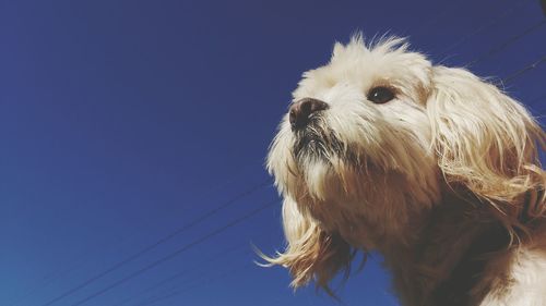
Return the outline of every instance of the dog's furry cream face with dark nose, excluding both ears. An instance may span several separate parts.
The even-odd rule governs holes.
[[[300,210],[368,248],[365,224],[395,231],[439,193],[426,110],[431,65],[405,46],[393,50],[401,42],[337,44],[328,65],[304,74],[269,157]]]

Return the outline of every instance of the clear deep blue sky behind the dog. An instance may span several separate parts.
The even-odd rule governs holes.
[[[283,246],[263,161],[290,91],[356,30],[546,110],[534,0],[1,1],[0,305],[339,305],[250,243]],[[397,305],[380,262],[343,305]]]

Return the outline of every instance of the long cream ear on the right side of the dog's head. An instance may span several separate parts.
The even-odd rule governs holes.
[[[545,216],[537,148],[546,135],[523,106],[463,69],[436,66],[428,94],[432,146],[448,183],[492,205],[509,228],[522,215]]]

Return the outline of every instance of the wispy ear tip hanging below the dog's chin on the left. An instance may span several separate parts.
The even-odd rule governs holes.
[[[290,271],[292,286],[299,287],[314,279],[318,286],[331,293],[328,283],[340,271],[346,276],[354,257],[351,246],[337,234],[320,229],[312,218],[299,211],[297,204],[285,198],[283,225],[286,249],[276,258],[262,256],[271,265],[281,265]]]

